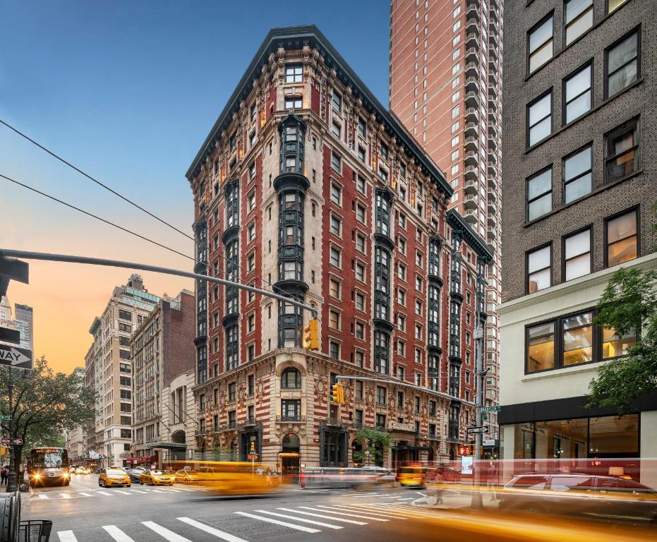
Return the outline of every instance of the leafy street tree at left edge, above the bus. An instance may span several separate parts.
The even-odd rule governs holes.
[[[23,445],[16,445],[16,474],[23,448],[30,445],[57,442],[57,435],[64,430],[85,425],[95,417],[95,395],[85,386],[80,376],[72,373],[55,373],[44,357],[35,359],[30,378],[23,378],[23,371],[11,369],[13,399],[8,404],[8,371],[0,371],[0,411],[11,416],[2,421],[4,434],[22,438]],[[60,440],[61,441],[61,440]]]

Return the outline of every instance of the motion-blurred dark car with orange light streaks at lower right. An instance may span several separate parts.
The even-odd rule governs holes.
[[[657,525],[657,491],[591,474],[519,474],[498,493],[500,509]]]

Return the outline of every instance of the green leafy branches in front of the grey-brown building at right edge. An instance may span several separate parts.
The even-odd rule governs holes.
[[[626,414],[635,399],[657,390],[657,272],[617,270],[598,303],[593,323],[617,335],[636,332],[628,355],[606,363],[589,384],[588,406],[611,407]]]

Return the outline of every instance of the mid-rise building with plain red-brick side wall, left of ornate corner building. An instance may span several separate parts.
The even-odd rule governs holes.
[[[195,448],[194,430],[179,418],[187,411],[186,392],[171,383],[186,380],[195,367],[195,298],[183,290],[164,296],[130,339],[132,361],[132,449],[129,464],[157,464],[184,459]],[[175,399],[182,398],[176,405]],[[191,405],[189,405],[191,406]],[[176,417],[171,416],[176,412]],[[181,422],[179,424],[179,422]]]

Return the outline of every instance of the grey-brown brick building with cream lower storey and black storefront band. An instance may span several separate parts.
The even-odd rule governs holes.
[[[654,7],[505,2],[498,313],[507,459],[657,453],[655,397],[622,418],[585,408],[598,368],[636,342],[592,325],[605,285],[619,267],[657,267]]]

